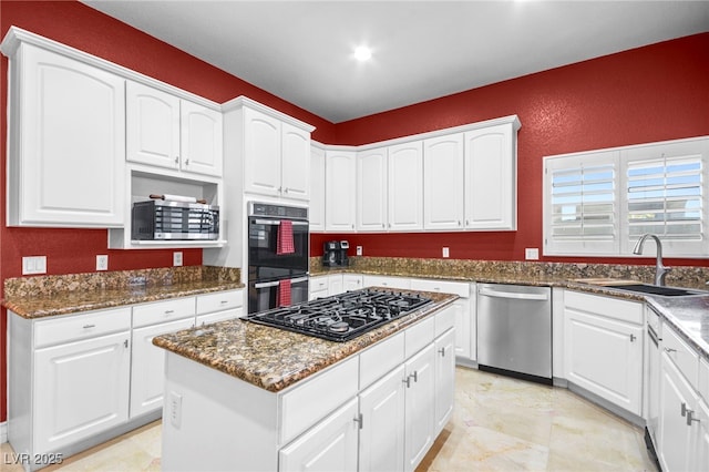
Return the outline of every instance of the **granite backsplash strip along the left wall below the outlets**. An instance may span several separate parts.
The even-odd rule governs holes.
[[[111,290],[145,285],[168,286],[203,280],[239,283],[242,271],[232,267],[183,266],[137,270],[114,270],[37,277],[16,277],[4,280],[4,296],[51,296],[75,290]]]

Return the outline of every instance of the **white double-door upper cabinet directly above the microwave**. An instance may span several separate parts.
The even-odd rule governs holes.
[[[127,161],[222,175],[222,113],[131,81],[125,106]]]

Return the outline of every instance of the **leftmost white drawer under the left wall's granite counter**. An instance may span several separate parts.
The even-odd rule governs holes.
[[[37,321],[34,347],[94,338],[131,329],[131,308],[88,311],[81,315]]]

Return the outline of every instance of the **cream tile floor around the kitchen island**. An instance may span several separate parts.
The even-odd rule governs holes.
[[[422,471],[657,471],[643,430],[566,389],[458,368],[453,419]],[[156,421],[44,471],[157,471]],[[2,471],[21,471],[1,448]]]

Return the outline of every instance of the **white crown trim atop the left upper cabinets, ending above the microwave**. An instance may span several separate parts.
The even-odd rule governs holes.
[[[66,44],[62,44],[58,41],[41,37],[18,27],[10,27],[8,33],[2,40],[2,43],[0,43],[0,52],[2,52],[8,58],[12,58],[22,43],[32,44],[47,51],[51,51],[56,54],[74,59],[76,61],[81,61],[89,65],[119,75],[123,79],[140,82],[154,89],[176,95],[189,102],[198,103],[209,110],[214,110],[217,112],[222,111],[222,105],[219,103],[213,102],[199,95],[195,95],[194,93],[189,93],[166,82],[162,82],[157,79],[153,79],[140,72],[135,72],[131,69],[124,68],[123,65],[115,64],[113,62],[106,61],[105,59],[97,58],[95,55],[89,54],[88,52],[78,50]]]

